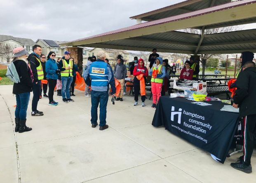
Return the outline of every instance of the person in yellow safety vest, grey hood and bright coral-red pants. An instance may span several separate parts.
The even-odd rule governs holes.
[[[155,64],[151,67],[149,71],[149,75],[151,78],[151,92],[153,97],[152,108],[156,108],[156,101],[159,101],[161,96],[161,89],[163,84],[163,78],[165,76],[165,67],[162,65],[163,59],[162,57],[157,57],[155,59]]]

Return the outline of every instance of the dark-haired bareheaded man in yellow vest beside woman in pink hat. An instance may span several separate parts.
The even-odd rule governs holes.
[[[43,116],[44,113],[37,109],[42,88],[41,80],[44,78],[44,71],[39,59],[42,53],[42,47],[36,44],[32,47],[32,50],[33,53],[28,56],[28,64],[31,67],[34,78],[31,116]]]

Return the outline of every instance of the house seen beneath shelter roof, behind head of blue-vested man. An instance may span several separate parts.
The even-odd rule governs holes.
[[[124,50],[114,50],[114,49],[105,49],[105,48],[94,48],[89,51],[89,57],[97,56],[99,51],[103,51],[106,54],[106,58],[109,60],[109,64],[114,66],[116,64],[117,55],[121,54],[124,57],[124,61],[129,60],[129,53]]]

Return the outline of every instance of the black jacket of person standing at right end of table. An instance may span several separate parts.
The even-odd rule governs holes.
[[[256,114],[256,67],[248,67],[237,77],[234,103],[239,105],[240,117]]]

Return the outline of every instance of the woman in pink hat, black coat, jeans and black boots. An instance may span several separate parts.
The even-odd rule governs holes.
[[[23,133],[32,130],[26,126],[26,116],[30,92],[33,89],[32,71],[26,62],[26,51],[22,47],[14,48],[13,64],[19,75],[20,82],[14,83],[12,93],[16,95],[15,132]]]

